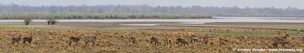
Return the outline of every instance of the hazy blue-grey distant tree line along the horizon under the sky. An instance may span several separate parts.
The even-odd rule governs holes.
[[[303,9],[239,8],[202,6],[148,6],[148,5],[97,5],[97,6],[20,6],[1,5],[0,13],[133,13],[133,14],[235,14],[235,15],[304,15]]]

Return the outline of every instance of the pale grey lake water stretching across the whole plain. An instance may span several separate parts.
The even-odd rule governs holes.
[[[202,24],[208,22],[290,22],[304,23],[304,18],[281,17],[215,17],[218,19],[106,19],[106,20],[58,20],[59,22],[181,22],[182,24]],[[0,20],[0,22],[24,22],[23,20]],[[46,22],[46,20],[33,20]],[[159,24],[121,24],[135,26],[154,26]]]

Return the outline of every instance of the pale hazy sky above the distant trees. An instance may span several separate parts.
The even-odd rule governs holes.
[[[0,4],[29,6],[70,6],[70,5],[144,5],[149,6],[214,6],[214,7],[296,7],[304,9],[304,0],[0,0]]]

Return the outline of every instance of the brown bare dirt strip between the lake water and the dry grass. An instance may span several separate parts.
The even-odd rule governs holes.
[[[57,25],[32,23],[23,25],[22,22],[11,22],[0,27],[35,27],[35,28],[78,28],[78,29],[110,29],[110,30],[173,30],[178,28],[258,28],[258,27],[302,27],[304,23],[265,23],[265,22],[215,22],[204,24],[176,24],[177,22],[63,22]],[[0,23],[4,24],[4,23]],[[120,24],[163,24],[162,26],[127,26]]]

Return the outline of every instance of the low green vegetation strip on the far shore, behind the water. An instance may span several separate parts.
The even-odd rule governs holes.
[[[211,15],[201,14],[80,14],[80,13],[45,13],[45,14],[0,14],[1,20],[43,19],[206,19]]]

